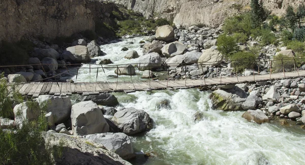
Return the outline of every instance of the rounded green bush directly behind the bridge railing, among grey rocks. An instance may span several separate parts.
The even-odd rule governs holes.
[[[237,52],[230,57],[232,61],[235,72],[241,73],[245,69],[252,69],[256,66],[257,55],[252,52]]]

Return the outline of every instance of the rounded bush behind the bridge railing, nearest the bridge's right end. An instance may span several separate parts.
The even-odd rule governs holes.
[[[294,69],[294,60],[293,59],[283,59],[289,58],[288,55],[278,54],[273,57],[275,61],[272,61],[272,72],[283,72],[283,65],[285,71],[292,71]],[[282,63],[283,59],[283,63]]]

